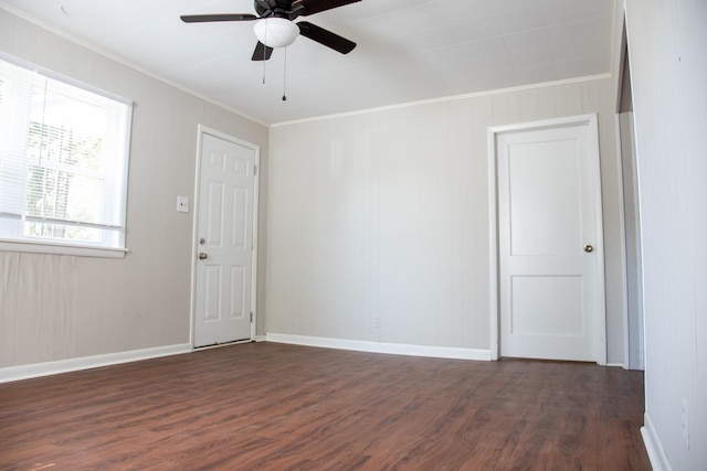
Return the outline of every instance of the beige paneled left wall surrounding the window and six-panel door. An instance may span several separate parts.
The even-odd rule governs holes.
[[[176,199],[193,202],[197,126],[261,146],[264,170],[267,128],[2,9],[0,50],[135,101],[129,254],[116,260],[0,251],[0,367],[189,343],[193,212],[177,213]],[[263,181],[262,255],[266,189]]]

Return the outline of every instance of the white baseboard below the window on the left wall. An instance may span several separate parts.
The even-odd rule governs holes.
[[[29,379],[80,370],[97,368],[160,356],[178,355],[192,351],[190,343],[156,346],[152,349],[130,350],[127,352],[107,353],[104,355],[82,356],[77,358],[57,360],[55,362],[33,363],[31,365],[7,366],[0,368],[0,383]]]

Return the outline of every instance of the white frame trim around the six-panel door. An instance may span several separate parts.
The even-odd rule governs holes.
[[[223,139],[225,141],[245,147],[255,152],[255,165],[257,168],[257,172],[255,173],[255,180],[253,182],[253,250],[252,250],[252,263],[253,269],[251,271],[251,312],[253,313],[253,321],[251,322],[251,341],[255,340],[255,327],[257,325],[257,221],[258,221],[258,183],[261,180],[261,147],[245,141],[243,139],[239,139],[225,132],[221,132],[213,128],[209,128],[204,125],[197,125],[197,169],[194,176],[194,195],[192,199],[192,236],[191,236],[191,299],[190,299],[190,322],[189,322],[189,342],[191,344],[192,350],[194,346],[194,323],[197,315],[197,260],[199,246],[197,240],[199,238],[199,194],[201,191],[201,146],[203,142],[203,136],[210,135],[217,137],[219,139]]]

